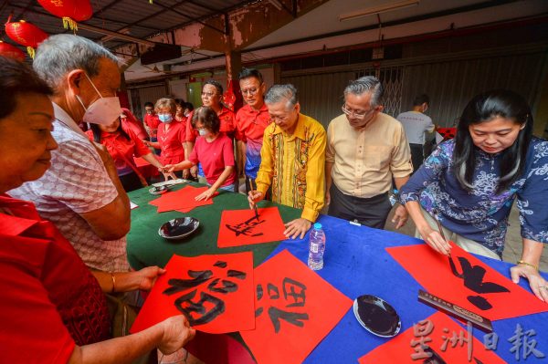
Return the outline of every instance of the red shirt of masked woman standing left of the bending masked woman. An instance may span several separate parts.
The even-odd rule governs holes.
[[[164,165],[184,161],[184,127],[184,123],[177,120],[173,120],[169,124],[162,123],[158,126],[158,142],[162,150],[160,161]]]

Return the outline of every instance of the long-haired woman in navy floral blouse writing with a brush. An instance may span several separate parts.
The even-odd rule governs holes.
[[[454,140],[442,142],[402,188],[401,199],[417,233],[440,254],[450,245],[501,259],[508,216],[517,198],[522,259],[511,277],[529,280],[548,302],[548,283],[538,273],[548,243],[548,141],[532,137],[532,114],[522,97],[492,90],[469,101]],[[425,212],[426,210],[426,212]]]

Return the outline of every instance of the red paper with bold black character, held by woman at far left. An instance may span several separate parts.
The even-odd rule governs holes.
[[[255,327],[253,254],[174,255],[135,319],[132,333],[183,314],[196,330],[220,334]]]

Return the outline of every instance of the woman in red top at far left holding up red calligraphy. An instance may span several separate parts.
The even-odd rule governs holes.
[[[153,348],[169,354],[195,335],[184,316],[110,339],[104,287],[72,245],[32,203],[6,192],[40,178],[58,147],[51,135],[52,90],[24,63],[0,57],[0,342],[8,363],[130,363]],[[14,138],[16,136],[16,138]],[[150,289],[158,267],[132,289]],[[140,271],[140,272],[142,272]],[[108,273],[105,274],[109,276]],[[116,288],[129,286],[117,276]],[[112,280],[114,283],[114,280]]]

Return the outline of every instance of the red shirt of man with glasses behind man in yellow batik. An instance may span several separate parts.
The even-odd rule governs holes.
[[[253,140],[262,144],[263,134],[269,126],[270,115],[267,105],[256,110],[249,105],[237,110],[236,139],[242,141]]]

